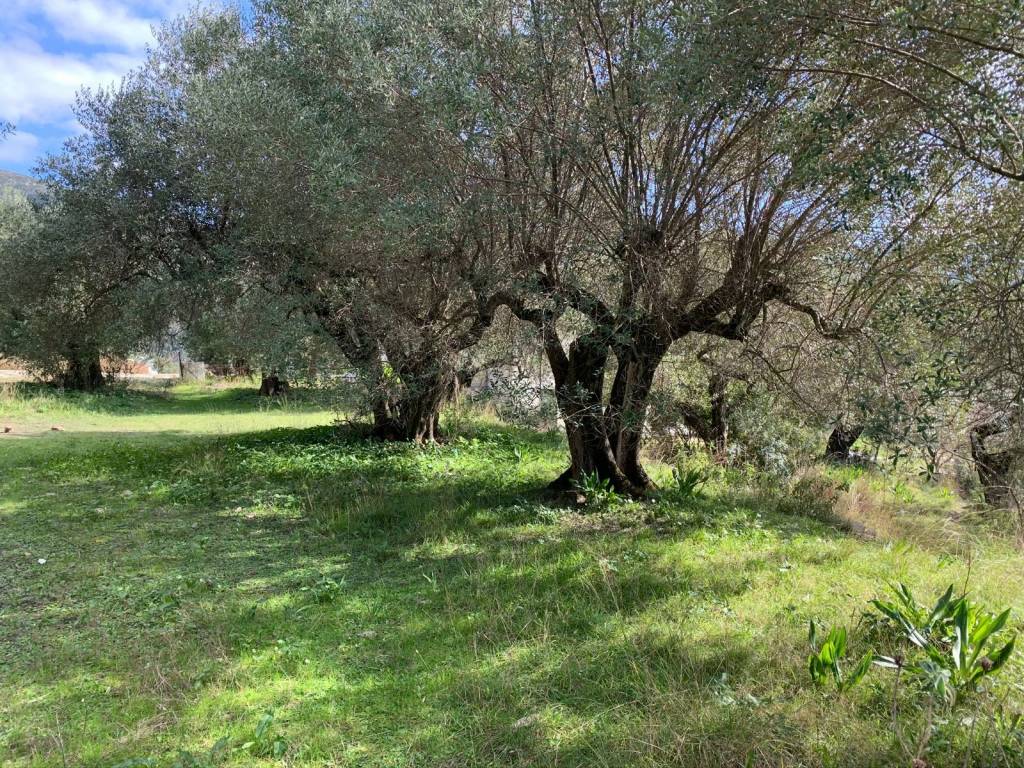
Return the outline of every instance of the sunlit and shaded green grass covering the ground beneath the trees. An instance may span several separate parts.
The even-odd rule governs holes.
[[[854,627],[896,580],[1024,616],[1024,557],[937,490],[880,479],[902,532],[873,540],[735,477],[582,514],[539,493],[557,436],[476,420],[418,450],[335,418],[0,396],[0,765],[204,765],[223,738],[229,766],[907,765],[891,678],[813,687],[808,621]],[[1015,658],[933,719],[929,764],[1020,765],[983,716],[1022,685]]]

